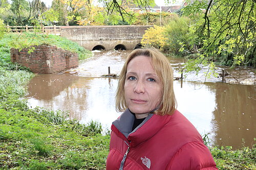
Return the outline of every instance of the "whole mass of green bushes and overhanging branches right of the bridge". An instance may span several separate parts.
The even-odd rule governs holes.
[[[191,65],[196,69],[206,65],[214,69],[216,63],[231,68],[256,67],[255,1],[185,2],[188,5],[180,11],[181,16],[172,17],[161,33],[166,38],[162,47],[166,53],[196,59],[190,60],[184,71],[189,71],[186,68]],[[152,40],[152,37],[144,37],[142,41],[150,42],[147,38]]]

